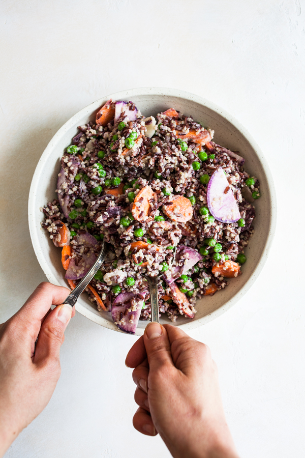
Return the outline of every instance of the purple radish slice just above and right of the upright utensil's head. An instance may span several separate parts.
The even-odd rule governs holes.
[[[186,245],[180,245],[177,247],[175,265],[167,274],[164,274],[164,280],[167,284],[170,284],[173,280],[192,269],[201,260],[202,256],[197,250]]]

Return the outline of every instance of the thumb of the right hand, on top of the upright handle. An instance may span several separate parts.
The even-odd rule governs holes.
[[[173,366],[168,335],[159,323],[148,323],[144,332],[144,345],[149,370],[157,370],[163,365]]]

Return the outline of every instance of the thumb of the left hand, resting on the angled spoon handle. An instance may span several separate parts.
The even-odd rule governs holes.
[[[48,358],[59,359],[60,346],[72,311],[71,305],[63,304],[58,305],[48,314],[38,334],[35,363],[44,362]]]

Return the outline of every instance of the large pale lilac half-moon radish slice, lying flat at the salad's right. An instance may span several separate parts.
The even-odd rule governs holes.
[[[218,221],[232,223],[240,219],[237,202],[222,167],[211,176],[206,197],[208,209]]]

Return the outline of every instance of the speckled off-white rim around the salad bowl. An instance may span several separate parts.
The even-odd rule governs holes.
[[[81,119],[86,113],[92,113],[94,109],[92,108],[92,105],[102,105],[105,100],[109,100],[110,98],[113,100],[120,100],[120,99],[127,99],[129,98],[132,100],[133,97],[135,96],[154,96],[154,95],[166,95],[166,96],[172,96],[172,97],[178,97],[182,99],[189,100],[191,102],[196,102],[199,103],[207,108],[209,108],[212,111],[215,111],[218,115],[222,116],[225,118],[227,121],[229,121],[235,128],[248,140],[249,144],[251,147],[255,150],[256,155],[258,156],[258,159],[261,163],[261,166],[264,170],[264,173],[267,177],[267,182],[268,182],[268,188],[270,192],[270,202],[272,202],[272,205],[270,206],[270,224],[269,224],[269,229],[268,229],[268,236],[265,240],[264,247],[262,249],[262,254],[260,256],[260,259],[253,270],[252,275],[249,277],[249,279],[246,281],[246,283],[241,287],[239,291],[234,294],[230,300],[228,300],[225,304],[221,305],[218,307],[216,310],[212,311],[211,313],[207,314],[206,316],[199,318],[199,319],[194,319],[190,320],[188,323],[184,324],[176,324],[176,326],[180,327],[181,329],[184,329],[185,331],[190,331],[192,329],[195,329],[199,326],[202,326],[203,324],[206,324],[210,322],[211,320],[214,320],[215,318],[219,317],[221,314],[226,312],[232,305],[234,305],[237,301],[241,299],[243,295],[245,295],[249,289],[252,287],[253,283],[255,280],[258,278],[259,274],[261,273],[265,262],[267,260],[269,248],[272,244],[273,237],[275,235],[275,230],[276,230],[276,222],[277,222],[277,205],[276,205],[276,189],[275,185],[273,182],[273,178],[271,175],[271,171],[269,169],[269,166],[267,164],[266,159],[264,158],[264,155],[258,146],[257,142],[255,139],[252,137],[252,135],[243,127],[233,116],[230,115],[226,110],[223,108],[219,107],[216,105],[214,102],[211,102],[203,97],[200,97],[198,95],[186,92],[186,91],[180,91],[176,89],[168,89],[168,88],[137,88],[137,89],[129,89],[126,91],[120,91],[116,92],[114,94],[110,94],[107,96],[102,97],[101,99],[90,103],[80,111],[78,111],[72,118],[70,118],[52,137],[50,140],[48,146],[44,150],[34,173],[32,183],[31,183],[31,188],[29,191],[29,198],[28,198],[28,224],[29,224],[29,231],[31,234],[31,240],[33,244],[33,248],[37,257],[37,260],[45,273],[47,279],[54,283],[54,284],[59,284],[57,281],[56,277],[50,272],[49,266],[48,266],[48,261],[45,259],[45,257],[41,254],[40,250],[40,244],[39,244],[39,239],[38,239],[38,234],[37,234],[37,225],[36,225],[36,220],[35,220],[35,206],[36,206],[36,191],[37,191],[37,186],[39,182],[39,177],[42,173],[42,170],[45,166],[46,160],[49,156],[52,154],[53,150],[53,144],[56,144],[56,140],[58,140],[60,137],[63,136],[63,134],[69,130],[71,127],[78,125],[77,122],[79,119]],[[108,321],[105,318],[103,318],[101,315],[96,315],[92,311],[88,310],[82,303],[81,299],[77,302],[76,304],[76,310],[80,312],[84,317],[88,318],[91,321],[94,321],[95,323],[100,324],[101,326],[104,326],[108,329],[112,329],[115,331],[119,331],[118,328],[114,325],[112,321]],[[136,335],[142,335],[144,333],[145,328],[137,328],[136,330]],[[121,332],[121,331],[119,331]]]

